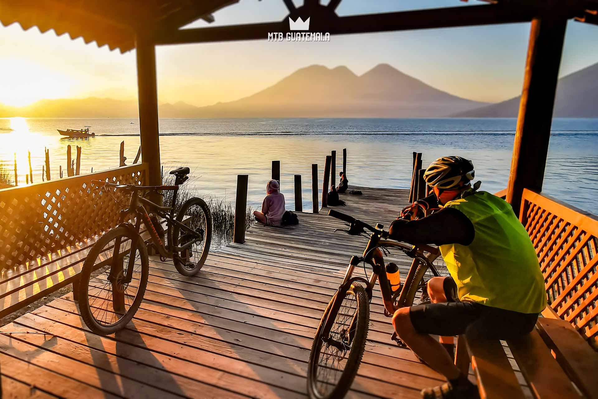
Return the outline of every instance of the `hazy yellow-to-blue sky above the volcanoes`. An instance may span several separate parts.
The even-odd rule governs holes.
[[[295,0],[295,4],[300,1]],[[344,0],[340,15],[461,6],[458,0]],[[469,4],[478,4],[470,1]],[[282,0],[242,0],[215,14],[215,25],[282,20]],[[199,21],[190,27],[207,26]],[[161,46],[160,102],[208,105],[251,95],[298,68],[346,65],[358,75],[378,63],[474,100],[521,91],[529,23],[332,36],[329,42],[244,41]],[[598,26],[569,22],[561,75],[598,62]],[[0,26],[0,103],[42,98],[136,96],[135,50],[126,54],[72,41],[54,31]]]

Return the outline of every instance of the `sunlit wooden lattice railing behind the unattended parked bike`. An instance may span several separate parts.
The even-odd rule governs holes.
[[[115,199],[122,194],[94,190],[91,180],[144,184],[146,173],[140,163],[0,190],[0,267],[44,257],[114,227],[123,208]]]

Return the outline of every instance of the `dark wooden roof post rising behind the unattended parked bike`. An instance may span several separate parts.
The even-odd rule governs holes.
[[[141,157],[147,163],[147,185],[161,185],[160,136],[158,135],[158,93],[155,78],[155,44],[148,36],[138,33],[135,38],[137,57],[137,86],[139,99],[139,132],[141,133]],[[150,197],[158,205],[162,197],[157,193]]]

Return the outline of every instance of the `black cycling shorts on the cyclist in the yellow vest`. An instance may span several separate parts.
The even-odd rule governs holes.
[[[533,330],[538,313],[520,313],[480,303],[456,299],[456,284],[444,279],[444,292],[449,302],[411,306],[411,324],[420,334],[486,339],[509,339]],[[456,301],[454,301],[456,300]]]

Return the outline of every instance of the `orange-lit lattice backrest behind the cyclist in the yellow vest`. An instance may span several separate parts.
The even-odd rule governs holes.
[[[550,306],[598,346],[598,217],[524,190],[520,220],[536,248]]]

